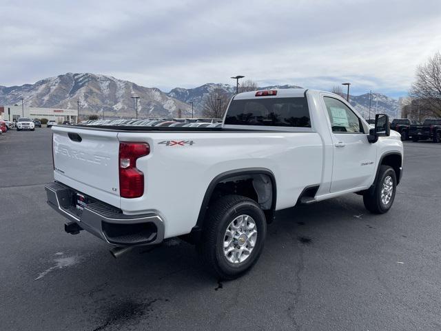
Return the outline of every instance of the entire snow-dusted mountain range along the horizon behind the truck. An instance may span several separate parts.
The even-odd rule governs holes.
[[[295,85],[263,86],[259,89],[300,88]],[[177,117],[181,110],[183,117],[192,114],[201,116],[203,100],[213,90],[228,95],[236,92],[236,87],[221,83],[206,83],[197,88],[174,88],[163,92],[158,88],[146,88],[131,81],[116,79],[103,74],[60,74],[57,77],[41,79],[34,84],[23,86],[0,86],[0,105],[20,103],[27,107],[76,108],[79,101],[81,114],[99,114],[105,117],[134,117],[135,100],[139,97],[140,118]],[[369,117],[369,93],[350,96],[351,104],[365,117]],[[384,94],[371,94],[371,117],[375,111],[396,117],[398,101]]]

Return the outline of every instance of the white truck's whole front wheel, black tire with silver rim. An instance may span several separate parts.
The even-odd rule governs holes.
[[[384,214],[391,209],[397,188],[395,170],[389,165],[380,165],[380,172],[373,192],[367,190],[363,195],[363,202],[369,212]]]

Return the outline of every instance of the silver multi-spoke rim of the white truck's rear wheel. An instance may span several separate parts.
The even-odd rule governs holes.
[[[257,239],[256,222],[249,215],[236,217],[225,231],[223,254],[230,263],[242,263],[254,250]]]

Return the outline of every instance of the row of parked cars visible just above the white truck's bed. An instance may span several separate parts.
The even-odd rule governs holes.
[[[81,126],[168,126],[191,128],[218,128],[221,119],[101,119],[79,123]]]

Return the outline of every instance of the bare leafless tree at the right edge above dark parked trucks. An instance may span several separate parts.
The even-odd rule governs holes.
[[[434,116],[441,117],[441,52],[418,66],[409,95],[422,101]]]

